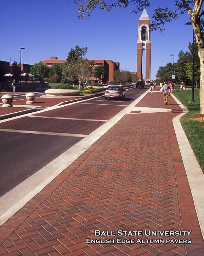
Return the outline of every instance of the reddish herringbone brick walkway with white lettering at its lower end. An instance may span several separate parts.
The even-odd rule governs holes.
[[[148,93],[141,107],[172,112],[130,114],[93,144],[1,228],[0,255],[201,256],[204,243],[172,119],[172,97]],[[95,236],[94,230],[116,236]],[[117,236],[117,230],[182,231],[190,236]],[[12,233],[12,234],[11,234]],[[86,239],[135,239],[87,244]],[[137,239],[164,243],[136,243]],[[190,244],[179,244],[191,239]],[[174,239],[174,243],[165,243]]]

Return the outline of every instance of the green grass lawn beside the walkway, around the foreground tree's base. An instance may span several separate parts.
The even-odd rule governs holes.
[[[193,120],[193,115],[200,113],[199,90],[194,90],[194,102],[191,103],[188,101],[191,101],[192,90],[173,91],[173,94],[189,111],[180,118],[180,122],[204,171],[204,122]]]

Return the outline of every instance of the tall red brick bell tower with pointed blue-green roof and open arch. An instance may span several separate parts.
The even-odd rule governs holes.
[[[145,79],[150,80],[151,68],[151,41],[150,41],[150,19],[146,9],[139,18],[138,41],[137,41],[137,76],[142,79],[142,52],[146,52],[146,74]]]

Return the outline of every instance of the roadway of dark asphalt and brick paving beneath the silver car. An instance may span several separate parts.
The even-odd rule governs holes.
[[[123,101],[115,98],[104,100],[104,97],[101,96],[56,110],[33,114],[36,117],[28,116],[0,123],[1,129],[31,131],[30,133],[0,132],[0,196],[83,139],[83,137],[78,137],[78,134],[90,134],[136,100],[147,89],[149,88],[126,90]],[[53,117],[60,117],[60,119]],[[71,133],[74,137],[34,134],[32,131]]]

